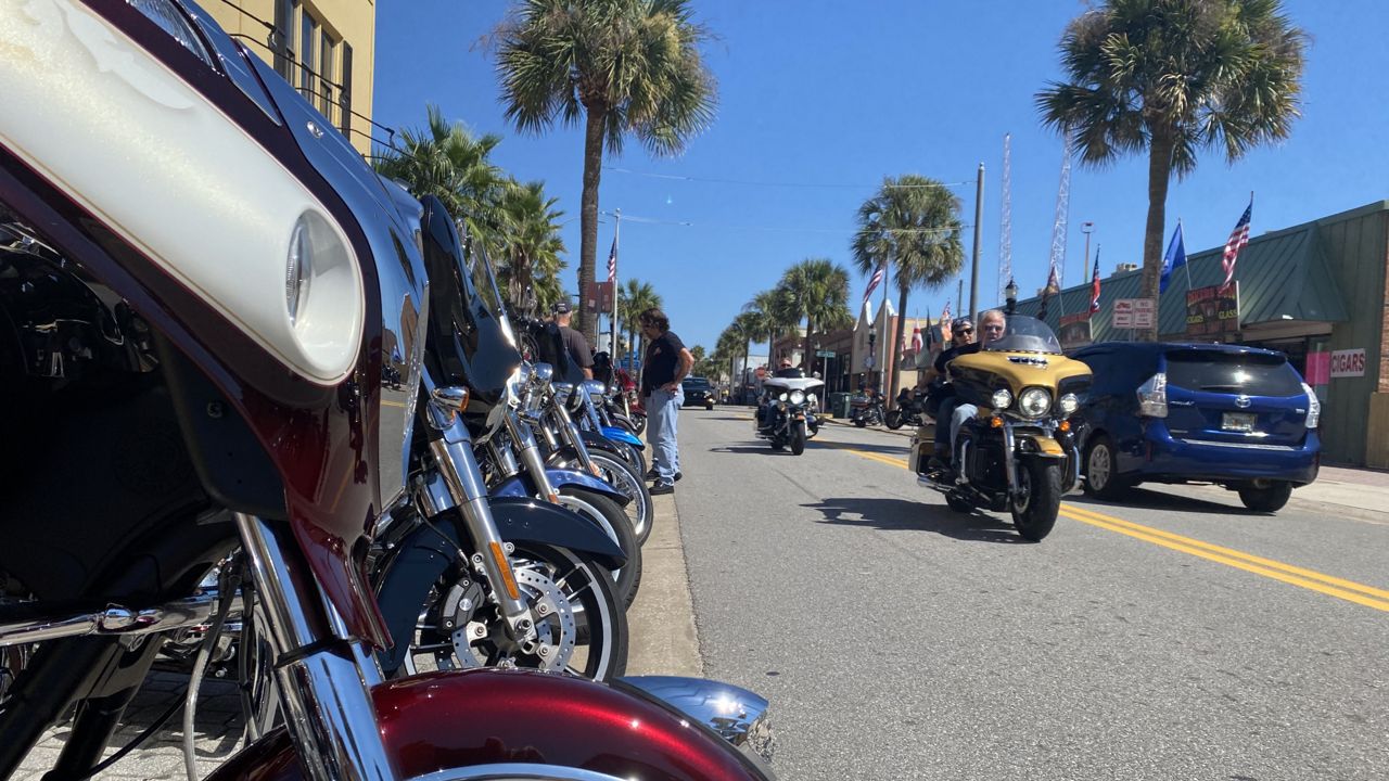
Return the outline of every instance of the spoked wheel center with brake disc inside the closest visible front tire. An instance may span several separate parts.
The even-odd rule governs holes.
[[[496,606],[476,582],[456,584],[444,598],[444,630],[451,630],[454,657],[458,666],[469,667],[528,667],[564,670],[574,656],[578,638],[574,607],[549,577],[528,568],[515,568],[517,586],[531,606],[529,621],[535,638],[524,642],[511,639]]]

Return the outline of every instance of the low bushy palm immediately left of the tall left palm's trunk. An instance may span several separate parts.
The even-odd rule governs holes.
[[[514,311],[550,311],[564,290],[560,270],[564,242],[560,239],[558,199],[546,197],[544,182],[506,182],[499,199],[500,229],[489,239],[501,258],[497,274]]]

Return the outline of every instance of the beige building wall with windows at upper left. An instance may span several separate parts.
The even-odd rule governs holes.
[[[299,88],[358,151],[371,153],[375,0],[200,0],[200,4],[232,38]]]

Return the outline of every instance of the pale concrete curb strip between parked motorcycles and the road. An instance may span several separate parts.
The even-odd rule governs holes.
[[[685,541],[675,496],[653,496],[656,518],[642,546],[642,588],[626,611],[628,675],[704,677],[694,625],[694,599],[685,567]]]

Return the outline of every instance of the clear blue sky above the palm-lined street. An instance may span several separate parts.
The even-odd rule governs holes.
[[[569,250],[564,285],[576,289],[582,133],[558,126],[521,135],[501,113],[483,38],[506,0],[378,0],[374,118],[424,126],[425,104],[475,132],[504,136],[493,158],[519,179],[544,179],[560,197]],[[704,49],[718,79],[713,126],[683,156],[651,158],[636,143],[608,156],[599,207],[622,210],[619,275],[651,282],[672,329],[713,347],[753,293],[789,265],[829,257],[850,270],[850,306],[867,277],[853,270],[858,206],[883,176],[922,174],[958,183],[961,220],[974,222],[974,176],[986,168],[979,260],[981,306],[996,300],[1003,136],[1011,133],[1013,267],[1024,292],[1046,281],[1061,140],[1038,121],[1033,94],[1060,78],[1056,43],[1083,3],[876,0],[706,0],[697,18],[717,36]],[[1286,1],[1311,35],[1303,118],[1275,147],[1235,165],[1208,151],[1174,182],[1170,233],[1182,218],[1189,253],[1222,245],[1253,190],[1253,235],[1389,197],[1389,6]],[[1092,221],[1101,275],[1140,263],[1146,163],[1076,167],[1071,179],[1065,283],[1081,282]],[[603,267],[611,218],[599,231]],[[964,236],[972,252],[972,229]],[[1165,243],[1165,238],[1164,238]],[[964,272],[970,290],[968,263]],[[1089,271],[1083,274],[1089,277]],[[908,314],[956,302],[954,282],[914,290]],[[893,293],[893,300],[896,295]],[[958,311],[958,303],[951,303]]]

